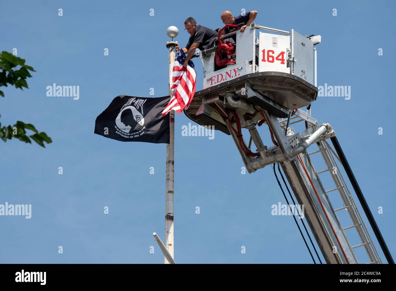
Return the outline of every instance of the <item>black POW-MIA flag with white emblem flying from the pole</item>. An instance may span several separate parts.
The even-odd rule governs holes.
[[[95,133],[117,141],[169,143],[169,114],[161,115],[169,99],[117,96],[96,118]]]

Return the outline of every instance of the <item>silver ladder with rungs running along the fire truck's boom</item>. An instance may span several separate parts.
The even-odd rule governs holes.
[[[287,137],[292,137],[295,136],[295,132],[293,127],[288,127],[287,126],[287,118],[286,119],[278,119],[280,126],[282,127],[282,129],[284,129],[284,131],[287,130]],[[307,129],[305,131],[303,131],[303,134],[299,135],[301,137],[302,141],[305,141],[310,133],[313,133],[314,131],[316,131],[317,129],[319,129],[320,125],[318,124],[317,120],[315,118],[312,118],[310,116],[310,113],[308,113],[307,111],[298,109],[295,116],[293,116],[292,118],[290,118],[290,123],[289,126],[292,124],[296,124],[298,122],[305,122]],[[369,263],[368,264],[381,264],[381,257],[379,256],[379,253],[377,252],[377,249],[375,248],[375,245],[373,243],[373,240],[370,237],[370,234],[366,228],[366,225],[358,211],[358,208],[356,207],[356,204],[352,198],[352,195],[350,194],[350,191],[348,189],[348,186],[344,180],[344,177],[341,173],[341,171],[339,171],[338,166],[337,166],[337,162],[336,162],[336,158],[337,160],[339,160],[339,162],[341,164],[343,164],[340,160],[340,158],[337,156],[336,152],[333,150],[333,148],[331,148],[331,146],[327,143],[326,139],[328,138],[332,138],[335,139],[335,133],[334,131],[327,133],[325,135],[320,136],[320,138],[318,140],[316,140],[316,145],[318,146],[318,150],[315,150],[313,152],[307,153],[304,152],[302,154],[299,155],[299,157],[297,157],[297,159],[299,160],[301,166],[303,166],[303,164],[305,163],[305,168],[306,169],[310,169],[310,171],[305,170],[305,175],[307,175],[308,181],[317,181],[318,185],[320,185],[320,188],[322,188],[322,191],[324,192],[322,194],[322,196],[327,196],[328,193],[330,193],[329,195],[335,193],[336,191],[339,193],[339,195],[341,196],[341,199],[343,201],[343,207],[334,209],[331,206],[331,202],[327,197],[327,201],[328,202],[328,207],[331,207],[331,209],[333,210],[333,213],[327,213],[326,216],[329,216],[332,219],[329,219],[329,221],[331,221],[331,223],[334,223],[336,225],[339,225],[339,233],[337,234],[337,232],[333,229],[333,232],[335,232],[335,237],[336,237],[336,241],[338,243],[341,243],[341,247],[343,247],[343,249],[341,249],[343,256],[339,256],[339,259],[341,259],[341,261],[343,261],[345,263],[358,263],[358,259],[357,256],[354,252],[355,248],[358,247],[364,247],[364,249],[366,250],[367,256],[369,257]],[[314,168],[314,165],[312,164],[309,156],[317,154],[317,153],[321,153],[322,158],[327,166],[326,169],[323,169],[321,171],[316,171]],[[303,162],[304,161],[304,162]],[[285,164],[284,162],[281,163],[282,167],[284,168],[284,171],[287,175],[287,172],[290,171],[289,169],[289,165]],[[303,167],[304,167],[303,166]],[[333,179],[334,182],[334,188],[331,188],[329,190],[325,190],[322,183],[320,182],[319,179],[319,175],[322,173],[328,172],[331,175],[331,178]],[[292,179],[292,177],[290,177],[290,175],[287,175],[289,178]],[[289,180],[290,182],[290,180]],[[314,184],[310,183],[311,186],[313,187]],[[293,187],[293,186],[292,186]],[[309,185],[308,185],[309,187]],[[316,191],[314,191],[316,192]],[[297,198],[298,199],[298,198]],[[322,201],[322,203],[324,203],[325,201]],[[339,221],[339,219],[337,218],[337,212],[338,211],[342,211],[346,209],[348,211],[351,223],[348,226],[345,227],[341,227],[341,223]],[[326,209],[327,211],[328,209]],[[326,212],[325,211],[325,212]],[[331,215],[334,214],[334,215]],[[324,219],[325,220],[325,219]],[[326,223],[325,223],[326,224]],[[331,228],[335,228],[334,226],[331,226]],[[355,228],[358,236],[361,240],[361,243],[351,246],[350,242],[346,236],[346,232],[345,230],[350,229],[350,228]],[[338,235],[338,238],[337,238]],[[320,240],[318,241],[320,242]],[[337,243],[334,242],[334,246],[336,246]],[[340,251],[340,250],[338,250]]]

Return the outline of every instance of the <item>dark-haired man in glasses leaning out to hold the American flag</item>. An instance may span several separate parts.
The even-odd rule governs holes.
[[[186,60],[184,61],[183,67],[187,68],[188,60],[194,55],[195,50],[198,48],[200,50],[208,49],[212,46],[213,42],[217,38],[217,33],[208,27],[202,25],[197,25],[196,21],[192,17],[188,17],[184,22],[185,30],[191,35],[188,39],[185,48],[182,48],[185,53],[187,53]],[[176,51],[180,49],[177,46]]]

